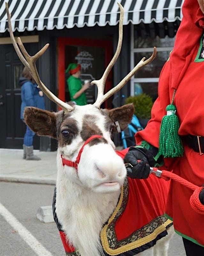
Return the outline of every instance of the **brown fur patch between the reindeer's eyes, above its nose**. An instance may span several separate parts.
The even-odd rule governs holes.
[[[82,124],[82,130],[81,130],[81,138],[86,141],[88,138],[90,138],[92,135],[101,135],[102,131],[101,129],[96,125],[95,120],[96,116],[92,115],[85,115],[83,118],[83,124]],[[104,138],[96,138],[94,140],[91,140],[89,142],[90,146],[96,145],[98,143],[108,143],[107,140]]]

